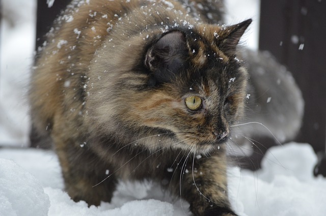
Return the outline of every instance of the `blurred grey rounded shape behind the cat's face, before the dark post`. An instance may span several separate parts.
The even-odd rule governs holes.
[[[250,78],[246,117],[239,127],[248,137],[270,137],[283,143],[295,138],[304,114],[302,93],[286,67],[267,51],[241,51]],[[264,126],[262,126],[264,125]]]

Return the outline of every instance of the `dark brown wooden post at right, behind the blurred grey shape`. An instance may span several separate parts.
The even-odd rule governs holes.
[[[295,141],[316,152],[326,144],[326,1],[261,1],[259,49],[269,50],[292,72],[305,99]]]

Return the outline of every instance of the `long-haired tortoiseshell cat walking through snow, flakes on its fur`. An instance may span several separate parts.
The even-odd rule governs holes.
[[[194,215],[236,215],[225,142],[248,96],[236,47],[251,19],[209,24],[221,8],[209,0],[73,1],[57,19],[30,101],[74,201],[110,202],[118,179],[152,179],[169,182],[162,186]]]

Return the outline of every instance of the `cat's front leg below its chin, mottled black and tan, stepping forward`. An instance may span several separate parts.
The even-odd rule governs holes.
[[[196,216],[236,215],[227,192],[226,156],[195,156],[184,172],[181,196]]]

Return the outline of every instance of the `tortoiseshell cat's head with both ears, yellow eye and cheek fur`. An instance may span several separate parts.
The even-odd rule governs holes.
[[[150,36],[151,42],[124,53],[125,60],[96,63],[106,74],[96,74],[101,78],[89,97],[96,106],[88,106],[90,115],[103,132],[140,140],[150,150],[218,148],[243,113],[248,75],[236,46],[250,23],[174,29]]]

